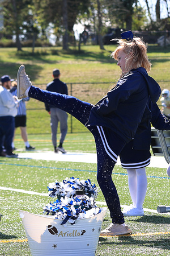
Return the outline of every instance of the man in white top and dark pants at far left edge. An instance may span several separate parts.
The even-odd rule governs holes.
[[[15,115],[17,114],[18,98],[12,96],[11,78],[8,75],[1,77],[0,86],[0,156],[17,158],[18,155],[12,152],[12,139],[15,130]],[[5,144],[6,152],[3,151]]]

